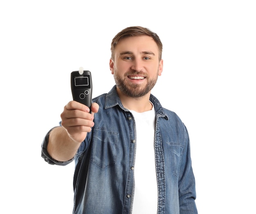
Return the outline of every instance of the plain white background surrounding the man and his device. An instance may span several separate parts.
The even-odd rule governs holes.
[[[112,88],[111,40],[134,25],[163,42],[152,94],[189,130],[198,212],[256,213],[255,11],[253,0],[1,1],[0,213],[72,213],[74,163],[48,165],[41,143],[72,99],[71,71],[92,72],[93,96]]]

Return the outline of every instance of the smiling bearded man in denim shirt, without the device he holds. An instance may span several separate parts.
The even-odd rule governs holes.
[[[163,70],[162,42],[128,27],[111,43],[116,85],[90,109],[69,102],[42,144],[50,164],[75,160],[74,214],[195,214],[189,135],[151,89]]]

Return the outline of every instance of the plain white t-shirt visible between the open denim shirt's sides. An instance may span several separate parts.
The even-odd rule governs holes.
[[[153,105],[153,104],[152,104]],[[132,214],[157,213],[157,178],[155,171],[155,109],[131,111],[136,124],[135,195]]]

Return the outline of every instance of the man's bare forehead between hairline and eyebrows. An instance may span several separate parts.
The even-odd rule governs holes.
[[[115,47],[115,54],[123,51],[133,53],[151,51],[155,56],[158,56],[157,43],[150,36],[130,36],[121,39]]]

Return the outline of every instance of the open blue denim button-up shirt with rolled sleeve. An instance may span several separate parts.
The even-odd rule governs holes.
[[[156,111],[155,164],[158,214],[197,214],[195,179],[191,167],[189,135],[180,118],[164,109],[150,95]],[[130,214],[134,196],[136,150],[135,120],[121,104],[116,87],[93,99],[99,104],[94,127],[76,156],[66,162],[47,153],[49,132],[42,157],[50,164],[75,160],[74,214]],[[146,181],[145,181],[146,182]]]

